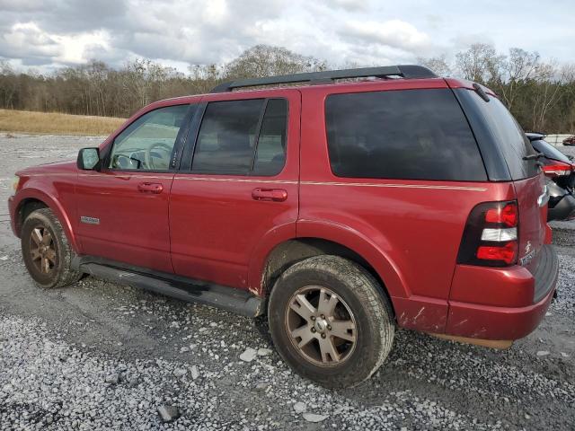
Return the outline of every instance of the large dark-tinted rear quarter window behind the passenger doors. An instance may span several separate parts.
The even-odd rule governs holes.
[[[487,180],[471,129],[450,90],[335,94],[325,110],[335,175]]]

